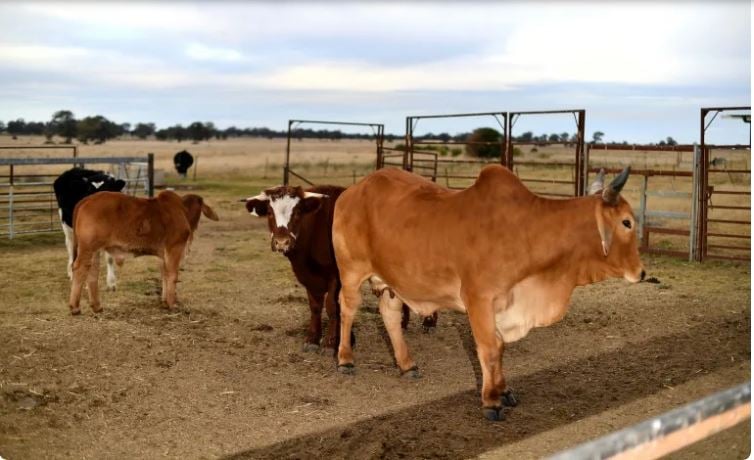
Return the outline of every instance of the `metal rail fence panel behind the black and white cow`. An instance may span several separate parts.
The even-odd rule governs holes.
[[[124,192],[154,196],[154,155],[124,157],[0,158],[0,236],[9,239],[28,233],[57,231],[60,227],[53,183],[60,166],[109,164],[126,182]],[[23,171],[32,169],[33,172]],[[67,168],[65,168],[67,169]]]

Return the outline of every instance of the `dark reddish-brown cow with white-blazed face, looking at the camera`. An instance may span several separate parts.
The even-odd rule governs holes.
[[[267,217],[271,249],[288,258],[296,279],[306,288],[311,311],[304,344],[307,351],[319,349],[323,306],[330,321],[322,345],[335,348],[338,341],[340,282],[332,248],[332,219],[343,190],[334,185],[307,190],[281,185],[244,200],[251,215]]]

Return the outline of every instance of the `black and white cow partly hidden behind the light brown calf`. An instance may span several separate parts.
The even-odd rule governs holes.
[[[73,210],[79,201],[95,192],[120,192],[126,183],[121,179],[91,169],[72,168],[64,172],[52,184],[58,200],[58,212],[68,249],[68,277],[73,274]],[[115,289],[115,260],[107,256],[107,287]]]

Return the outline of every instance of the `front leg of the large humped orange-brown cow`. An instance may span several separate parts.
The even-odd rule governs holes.
[[[482,368],[482,413],[488,420],[502,420],[504,415],[500,397],[505,388],[505,379],[500,352],[503,343],[495,330],[492,302],[489,299],[474,299],[465,303]]]

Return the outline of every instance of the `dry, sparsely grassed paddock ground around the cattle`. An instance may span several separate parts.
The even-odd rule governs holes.
[[[461,314],[441,312],[431,334],[412,315],[406,340],[424,376],[407,381],[365,291],[357,374],[341,375],[332,355],[302,351],[305,291],[270,252],[266,223],[237,202],[280,183],[272,164],[284,141],[270,142],[234,147],[237,161],[211,154],[220,142],[200,146],[196,181],[167,178],[204,196],[221,219],[199,225],[177,311],[160,308],[156,259],[141,257],[126,261],[118,291],[102,294],[103,313],[83,302],[71,317],[62,232],[0,239],[0,455],[540,458],[750,379],[749,264],[655,254],[643,259],[659,283],[578,288],[563,321],[507,348],[520,404],[503,422],[479,412],[480,374]],[[374,167],[373,142],[306,144],[342,153],[338,161],[311,154],[297,171],[319,171],[326,158],[341,171]],[[162,167],[176,145],[138,148]],[[268,149],[277,156],[265,161]],[[638,190],[634,179],[628,186]],[[679,455],[744,458],[749,427]]]

